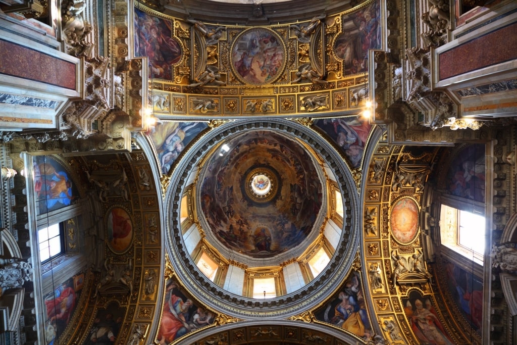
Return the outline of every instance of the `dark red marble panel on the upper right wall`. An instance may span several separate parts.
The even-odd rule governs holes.
[[[517,23],[439,54],[439,79],[517,59]]]

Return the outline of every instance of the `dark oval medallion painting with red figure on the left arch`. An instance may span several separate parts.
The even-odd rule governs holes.
[[[133,240],[133,221],[126,209],[113,207],[107,214],[108,246],[115,253],[123,253]]]

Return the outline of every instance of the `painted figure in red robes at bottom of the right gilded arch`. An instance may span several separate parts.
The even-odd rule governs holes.
[[[415,309],[409,318],[417,338],[427,344],[452,345],[436,314],[424,308],[420,299],[416,299],[414,305]]]

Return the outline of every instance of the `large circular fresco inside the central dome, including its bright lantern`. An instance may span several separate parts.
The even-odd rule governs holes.
[[[299,246],[322,208],[313,159],[273,131],[229,137],[207,159],[200,181],[201,211],[219,247],[250,258]]]

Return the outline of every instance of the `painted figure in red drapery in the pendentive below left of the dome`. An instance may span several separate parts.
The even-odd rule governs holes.
[[[183,301],[183,298],[174,294],[173,289],[176,287],[174,282],[169,282],[165,290],[162,319],[158,331],[158,341],[163,345],[170,344],[174,339],[191,331],[186,316],[192,301],[190,299]]]

